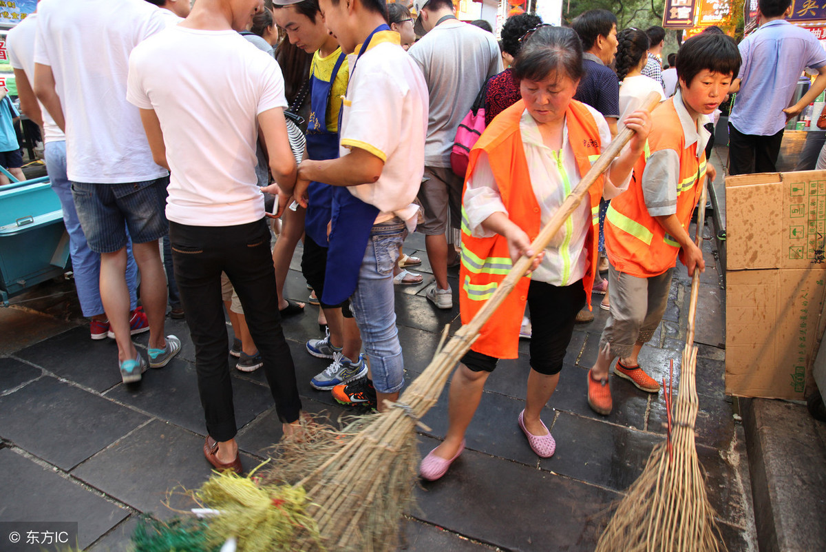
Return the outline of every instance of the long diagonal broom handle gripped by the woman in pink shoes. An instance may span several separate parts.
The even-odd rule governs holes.
[[[640,109],[651,112],[654,107],[657,107],[659,102],[660,95],[658,93],[649,93],[643,100],[643,105]],[[559,207],[558,211],[554,213],[553,217],[551,217],[551,220],[548,221],[548,224],[545,225],[541,231],[539,231],[539,236],[536,236],[536,239],[530,245],[530,249],[534,251],[534,255],[531,257],[525,257],[525,255],[523,255],[518,261],[516,261],[516,264],[514,264],[513,268],[510,269],[510,272],[507,274],[505,279],[502,280],[496,288],[496,292],[494,292],[487,302],[485,302],[485,305],[479,309],[476,316],[473,316],[472,320],[468,322],[468,325],[462,326],[464,335],[476,335],[477,332],[482,329],[482,326],[485,325],[487,320],[493,316],[493,313],[496,312],[496,308],[499,307],[501,302],[505,301],[505,298],[511,290],[513,290],[519,279],[528,272],[528,269],[530,268],[531,263],[534,262],[536,256],[544,251],[545,247],[548,246],[548,243],[550,243],[551,239],[553,239],[553,236],[556,235],[560,228],[562,228],[565,221],[567,221],[567,218],[571,216],[582,200],[586,197],[588,189],[591,188],[593,183],[596,182],[596,179],[608,169],[609,165],[614,161],[615,157],[619,155],[619,151],[623,149],[624,145],[631,140],[631,136],[634,136],[634,131],[629,128],[625,128],[624,131],[620,132],[614,140],[611,140],[611,144],[608,148],[602,152],[599,159],[596,159],[596,163],[591,165],[591,170],[589,170],[582,180],[579,181],[572,193],[565,198],[565,201]],[[462,285],[462,283],[460,282],[459,285]]]

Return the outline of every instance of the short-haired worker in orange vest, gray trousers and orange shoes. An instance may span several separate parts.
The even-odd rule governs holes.
[[[629,191],[608,209],[610,316],[588,375],[588,404],[595,412],[611,412],[608,370],[616,357],[614,374],[648,393],[659,391],[637,355],[665,312],[677,254],[688,274],[705,269],[703,253],[687,231],[705,176],[713,181],[716,174],[706,164],[710,134],[704,125],[729,93],[739,67],[729,36],[704,33],[686,40],[676,60],[679,91],[653,112],[653,130]]]

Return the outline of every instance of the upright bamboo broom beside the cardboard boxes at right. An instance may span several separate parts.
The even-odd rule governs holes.
[[[705,225],[705,184],[700,192],[695,244],[700,247]],[[691,276],[686,347],[682,353],[676,411],[667,397],[668,437],[619,502],[596,552],[711,552],[726,550],[705,493],[705,478],[695,445],[699,408],[696,388],[697,348],[694,345],[700,270]]]

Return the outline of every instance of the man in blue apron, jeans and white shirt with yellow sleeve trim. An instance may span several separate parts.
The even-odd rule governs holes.
[[[334,186],[322,302],[350,297],[369,360],[368,376],[336,386],[333,397],[384,411],[404,385],[393,264],[419,212],[414,200],[425,160],[427,87],[399,34],[387,26],[383,0],[320,0],[319,7],[350,55],[350,79],[340,157],[302,161],[295,196],[306,206],[310,182]]]

